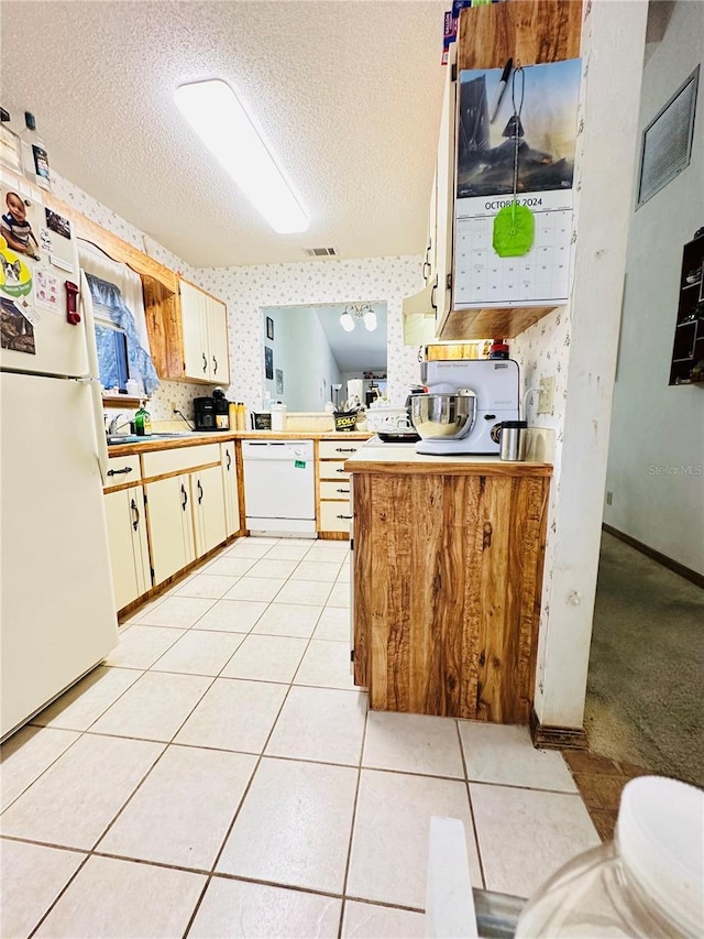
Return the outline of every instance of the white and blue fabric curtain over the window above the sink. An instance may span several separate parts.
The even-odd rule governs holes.
[[[158,378],[150,353],[142,279],[89,241],[78,240],[78,256],[94,304],[127,336],[130,376],[141,379],[145,393],[152,394]]]

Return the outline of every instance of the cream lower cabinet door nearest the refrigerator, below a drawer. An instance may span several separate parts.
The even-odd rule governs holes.
[[[152,588],[150,548],[141,485],[105,496],[112,582],[118,610]]]

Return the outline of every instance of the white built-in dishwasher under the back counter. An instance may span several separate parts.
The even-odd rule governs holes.
[[[246,527],[316,537],[312,440],[243,440]]]

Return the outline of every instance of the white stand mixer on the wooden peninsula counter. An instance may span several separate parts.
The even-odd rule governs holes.
[[[518,363],[513,359],[465,359],[421,362],[420,380],[428,395],[458,395],[471,401],[474,419],[455,436],[447,425],[414,423],[421,438],[416,452],[431,456],[457,454],[495,455],[499,451],[496,430],[502,421],[518,419]],[[417,398],[427,395],[417,395]],[[415,402],[414,402],[415,403]],[[420,408],[420,401],[418,402]],[[419,426],[420,425],[420,426]],[[437,433],[436,433],[437,432]]]

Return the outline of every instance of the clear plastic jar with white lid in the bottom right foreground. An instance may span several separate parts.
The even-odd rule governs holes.
[[[516,939],[695,939],[704,931],[704,791],[658,776],[622,794],[614,841],[578,855],[527,903]]]

